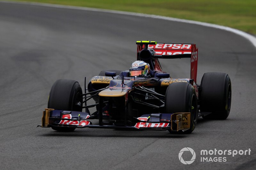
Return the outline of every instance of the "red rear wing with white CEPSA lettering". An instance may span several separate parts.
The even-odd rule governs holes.
[[[190,78],[194,79],[194,82],[196,83],[198,57],[198,48],[196,48],[196,44],[170,44],[157,43],[156,41],[137,41],[136,44],[137,58],[140,51],[145,48],[145,45],[148,46],[148,48],[155,50],[156,54],[154,55],[154,58],[190,58]]]

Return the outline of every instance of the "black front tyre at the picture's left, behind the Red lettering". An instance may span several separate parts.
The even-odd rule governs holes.
[[[48,108],[82,112],[82,88],[75,80],[60,79],[53,85],[49,94]],[[76,128],[52,127],[57,131],[74,131]]]

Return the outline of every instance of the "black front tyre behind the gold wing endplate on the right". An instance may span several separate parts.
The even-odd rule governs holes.
[[[191,113],[190,129],[185,132],[169,131],[170,133],[190,134],[197,123],[198,108],[195,88],[186,82],[172,83],[165,92],[165,113],[181,112]]]

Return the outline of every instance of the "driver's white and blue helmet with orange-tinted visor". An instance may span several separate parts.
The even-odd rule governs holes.
[[[130,76],[148,76],[150,74],[150,67],[148,63],[145,63],[144,61],[135,61],[132,63],[132,66],[130,68]]]

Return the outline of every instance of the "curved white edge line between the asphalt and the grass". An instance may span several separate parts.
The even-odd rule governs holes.
[[[106,10],[106,9],[99,9],[99,8],[88,8],[88,7],[79,7],[79,6],[70,6],[70,5],[59,5],[59,4],[46,4],[46,3],[37,3],[37,2],[17,2],[17,1],[0,1],[1,3],[8,3],[8,4],[28,4],[28,5],[37,5],[37,6],[45,6],[45,7],[53,7],[53,8],[64,8],[64,9],[74,9],[74,10],[84,10],[84,11],[96,11],[96,12],[107,12],[107,13],[114,13],[114,14],[123,14],[123,15],[132,15],[132,16],[140,16],[140,17],[148,17],[148,18],[157,18],[157,19],[164,19],[169,21],[176,21],[176,22],[183,22],[189,24],[196,24],[201,26],[207,26],[212,28],[217,28],[225,31],[229,31],[244,37],[245,39],[249,40],[252,45],[256,48],[256,37],[245,33],[244,31],[237,30],[235,28],[230,28],[228,26],[220,26],[217,24],[210,24],[200,21],[192,21],[187,19],[179,19],[179,18],[172,18],[172,17],[164,17],[160,15],[150,15],[150,14],[143,14],[143,13],[136,13],[136,12],[126,12],[126,11],[116,11],[116,10]]]

